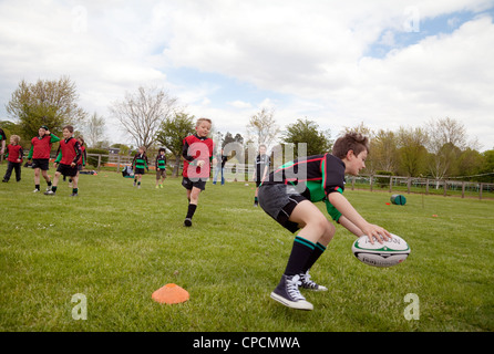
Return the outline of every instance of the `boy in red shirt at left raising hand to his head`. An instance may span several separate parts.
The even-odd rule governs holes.
[[[48,166],[50,164],[51,145],[60,142],[60,138],[51,134],[45,125],[40,127],[38,134],[38,136],[31,139],[31,149],[28,155],[28,160],[32,159],[32,168],[34,168],[34,192],[40,191],[40,170],[48,184],[47,190],[50,190],[51,180],[48,176]]]

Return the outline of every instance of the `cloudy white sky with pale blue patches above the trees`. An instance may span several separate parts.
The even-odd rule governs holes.
[[[69,75],[112,143],[126,136],[109,107],[143,85],[223,133],[261,107],[333,138],[451,117],[485,150],[493,22],[494,0],[0,0],[0,119],[21,80]]]

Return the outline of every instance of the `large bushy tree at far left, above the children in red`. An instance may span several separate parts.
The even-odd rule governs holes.
[[[86,113],[79,107],[75,83],[69,76],[59,80],[38,80],[30,84],[22,80],[6,105],[7,113],[19,121],[22,135],[31,138],[38,135],[40,126],[61,134],[66,124],[75,128],[85,121]]]

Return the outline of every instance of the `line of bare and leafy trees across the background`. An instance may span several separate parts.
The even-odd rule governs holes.
[[[20,135],[21,144],[27,145],[38,135],[41,125],[61,134],[62,127],[71,124],[84,135],[89,147],[101,147],[106,144],[104,118],[85,112],[78,100],[75,83],[68,76],[35,83],[22,80],[6,105],[13,122],[0,122],[0,127]],[[179,105],[177,97],[156,87],[141,86],[134,93],[126,93],[122,100],[111,104],[110,113],[136,147],[163,146],[176,160],[182,155],[183,138],[195,132],[196,117]],[[346,127],[340,134],[348,131],[358,131],[370,137],[371,154],[363,173],[494,183],[494,149],[480,153],[477,142],[469,140],[465,126],[454,118],[435,118],[421,127],[402,126],[397,131],[375,131],[361,123]],[[239,133],[234,136],[230,132],[224,135],[214,126],[213,134],[222,146],[231,142],[256,146],[265,144],[276,150],[290,144],[294,157],[299,154],[299,143],[306,144],[308,156],[330,152],[333,143],[331,131],[321,129],[308,117],[281,129],[275,111],[267,107],[249,117],[246,132],[246,137]],[[175,165],[174,175],[178,173],[178,164]]]

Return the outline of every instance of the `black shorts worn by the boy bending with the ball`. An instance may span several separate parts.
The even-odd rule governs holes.
[[[308,200],[296,187],[290,185],[261,185],[258,194],[259,206],[279,225],[290,232],[299,228],[297,222],[288,220],[300,201]]]

